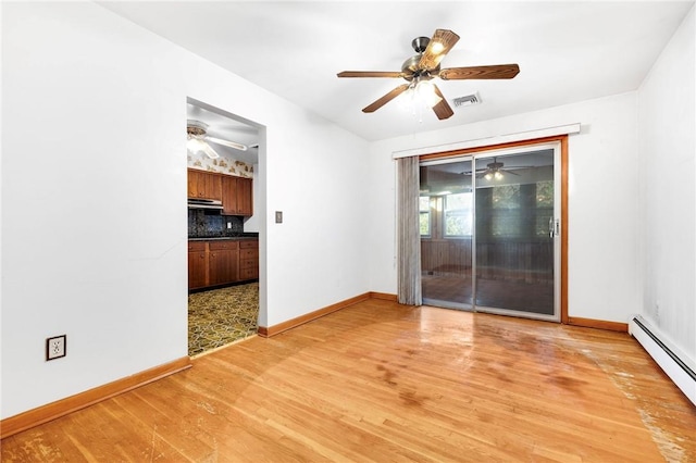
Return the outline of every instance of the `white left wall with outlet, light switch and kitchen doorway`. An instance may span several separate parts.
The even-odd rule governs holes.
[[[365,141],[94,3],[0,8],[1,417],[186,355],[187,97],[265,127],[260,323],[370,289]]]

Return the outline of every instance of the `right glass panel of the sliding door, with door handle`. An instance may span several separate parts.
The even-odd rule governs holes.
[[[555,315],[554,150],[475,163],[476,308]]]

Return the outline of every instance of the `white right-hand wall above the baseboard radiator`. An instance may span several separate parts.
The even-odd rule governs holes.
[[[642,314],[696,367],[694,9],[638,91]],[[639,312],[639,311],[636,311]]]

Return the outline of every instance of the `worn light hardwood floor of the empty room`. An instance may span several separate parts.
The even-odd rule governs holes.
[[[369,300],[2,441],[2,461],[696,461],[626,334]]]

